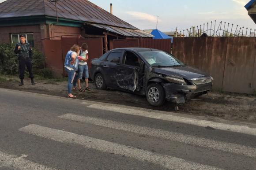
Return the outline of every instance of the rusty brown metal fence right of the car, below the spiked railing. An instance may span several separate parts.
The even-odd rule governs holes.
[[[178,37],[173,55],[211,74],[215,90],[256,92],[256,37]]]

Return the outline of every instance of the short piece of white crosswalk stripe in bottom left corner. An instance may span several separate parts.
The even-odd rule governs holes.
[[[26,160],[24,156],[9,155],[0,151],[0,167],[16,168],[19,170],[56,170]]]

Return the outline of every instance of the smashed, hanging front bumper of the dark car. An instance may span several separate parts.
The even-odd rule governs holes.
[[[212,83],[204,85],[178,85],[174,83],[164,83],[162,86],[166,92],[166,100],[182,104],[197,93],[206,94],[211,90]]]

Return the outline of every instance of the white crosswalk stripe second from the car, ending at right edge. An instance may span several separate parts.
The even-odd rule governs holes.
[[[120,123],[116,121],[92,118],[88,116],[80,116],[73,114],[66,114],[59,116],[60,118],[69,119],[77,122],[90,123],[98,126],[104,126],[112,129],[124,130],[132,133],[139,133],[143,135],[149,135],[153,137],[159,137],[168,140],[174,140],[185,144],[192,144],[200,147],[212,148],[221,150],[224,152],[231,152],[235,154],[241,154],[256,158],[256,148],[251,148],[239,144],[231,144],[226,142],[220,142],[216,140],[205,139],[202,137],[194,137],[191,135],[185,135],[181,133],[173,133],[161,129],[154,129],[149,127],[137,126],[127,123]]]

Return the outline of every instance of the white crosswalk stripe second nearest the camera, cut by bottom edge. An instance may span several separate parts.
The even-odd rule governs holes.
[[[29,125],[19,129],[24,133],[44,137],[66,144],[79,144],[85,148],[93,148],[102,152],[109,152],[118,155],[125,155],[140,161],[148,161],[175,170],[218,170],[217,167],[207,166],[200,163],[193,163],[184,159],[179,159],[169,155],[161,155],[143,149],[132,148],[122,144],[117,144],[105,140],[95,139],[75,133],[70,133],[58,129],[51,129],[44,126]]]

